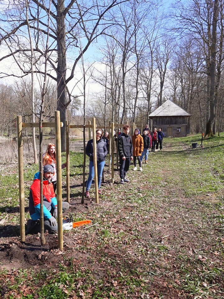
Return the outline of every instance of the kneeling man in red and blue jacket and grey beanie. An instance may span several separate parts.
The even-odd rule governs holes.
[[[43,212],[44,212],[44,231],[50,234],[58,233],[57,200],[51,179],[54,175],[54,166],[45,165],[43,169]],[[68,202],[62,202],[62,211],[69,209]],[[27,233],[40,232],[40,172],[35,173],[33,183],[30,187],[29,212],[31,219],[27,221]]]

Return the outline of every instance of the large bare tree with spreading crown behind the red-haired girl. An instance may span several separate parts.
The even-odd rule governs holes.
[[[41,62],[42,64],[45,63],[43,59],[44,40],[48,35],[47,63],[49,65],[47,75],[57,82],[57,109],[60,111],[60,118],[63,123],[67,119],[67,107],[72,99],[68,83],[74,77],[76,66],[91,43],[97,40],[107,28],[113,26],[111,15],[108,12],[123,2],[128,2],[128,0],[113,0],[110,4],[95,1],[82,3],[76,0],[67,3],[64,0],[58,0],[57,2],[52,1],[50,8],[46,7],[42,1],[30,0],[29,2],[29,22],[32,23],[30,28],[33,29],[32,38],[35,42],[35,53],[38,54],[34,62],[35,71],[44,74],[44,67]],[[8,46],[9,53],[4,55],[0,61],[12,57],[15,59],[21,73],[28,75],[30,74],[30,67],[26,63],[20,63],[21,58],[26,61],[23,53],[30,53],[30,47],[27,43],[24,43],[24,38],[27,36],[27,21],[22,17],[20,10],[17,10],[16,5],[17,1],[13,5],[10,3],[5,10],[7,17],[1,20],[5,26],[4,28],[1,27],[0,42]],[[65,5],[67,6],[65,7]],[[50,16],[49,31],[46,25],[48,24],[46,21],[48,15]],[[10,26],[13,24],[13,29],[7,28],[8,24]],[[67,78],[66,56],[70,53],[75,58]],[[39,66],[37,66],[37,63]],[[1,77],[8,75],[18,76],[18,74],[12,72],[1,72]],[[65,150],[65,141],[66,132],[65,126],[63,126],[61,129],[62,151]]]

